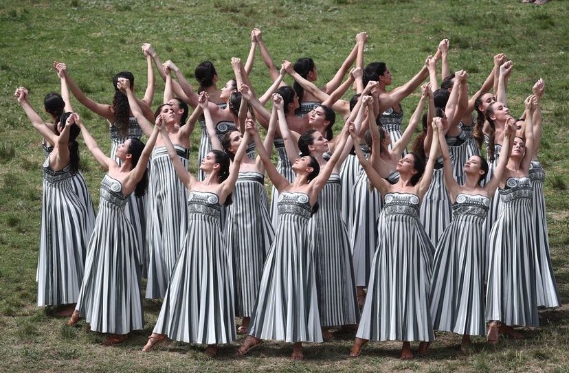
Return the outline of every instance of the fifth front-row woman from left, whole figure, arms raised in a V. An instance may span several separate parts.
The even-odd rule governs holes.
[[[513,122],[512,122],[513,123]],[[506,124],[504,148],[510,149],[515,130]],[[488,163],[480,155],[464,165],[465,183],[460,185],[452,172],[451,155],[442,128],[438,141],[443,152],[445,185],[452,203],[453,219],[438,240],[431,281],[431,317],[434,330],[462,335],[466,352],[472,335],[484,335],[484,218],[498,181],[502,178],[509,152],[495,168],[494,177],[484,185]]]

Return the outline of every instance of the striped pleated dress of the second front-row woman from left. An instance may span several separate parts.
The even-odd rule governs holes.
[[[153,332],[186,343],[236,339],[232,272],[219,210],[216,194],[189,193],[188,232]]]

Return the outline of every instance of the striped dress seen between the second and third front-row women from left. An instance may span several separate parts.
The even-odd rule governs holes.
[[[227,218],[227,257],[233,269],[235,315],[253,313],[265,257],[275,235],[269,218],[265,175],[240,172]]]

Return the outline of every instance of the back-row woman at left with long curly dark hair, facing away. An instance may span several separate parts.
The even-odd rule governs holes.
[[[153,120],[154,117],[152,110],[150,109],[150,105],[154,98],[154,74],[150,56],[145,53],[145,58],[148,71],[148,82],[144,98],[136,98],[136,100],[144,112],[144,117],[148,120]],[[65,63],[56,62],[54,63],[54,67],[58,71],[58,74],[65,78],[69,85],[69,89],[75,98],[81,104],[85,105],[87,109],[107,120],[109,135],[111,137],[111,159],[115,159],[115,161],[120,162],[120,159],[116,157],[116,149],[127,139],[140,139],[143,133],[146,134],[146,136],[150,136],[150,133],[152,133],[152,126],[144,126],[144,124],[140,124],[140,122],[136,120],[130,108],[129,100],[117,87],[118,79],[126,78],[129,79],[131,82],[131,89],[134,90],[134,76],[130,71],[120,71],[113,77],[113,88],[115,89],[115,94],[113,96],[113,103],[109,105],[101,104],[87,97],[87,95],[83,93],[69,75],[69,71],[67,70],[67,65],[65,65]],[[144,257],[144,237],[146,234],[146,210],[144,207],[144,196],[136,196],[134,193],[131,194],[129,196],[129,202],[125,207],[125,213],[133,227],[135,227],[136,237],[140,242],[137,247],[140,249],[140,256]],[[141,263],[141,265],[142,264],[144,263]]]

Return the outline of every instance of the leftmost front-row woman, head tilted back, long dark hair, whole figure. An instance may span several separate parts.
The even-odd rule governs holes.
[[[132,330],[144,327],[140,273],[143,258],[138,249],[141,242],[137,240],[124,209],[129,194],[134,192],[142,196],[146,192],[146,163],[158,128],[154,129],[146,146],[135,138],[119,145],[115,150],[119,165],[115,159],[104,155],[79,117],[76,117],[76,124],[81,128],[87,148],[107,169],[107,174],[101,182],[99,212],[89,240],[79,299],[67,324],[73,326],[80,317],[85,317],[91,330],[110,334],[103,343],[110,346],[126,340]]]

